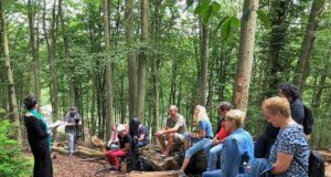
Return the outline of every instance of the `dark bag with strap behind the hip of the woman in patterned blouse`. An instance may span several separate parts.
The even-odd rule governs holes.
[[[307,171],[300,160],[295,157],[295,160],[299,163],[299,165]],[[316,150],[310,150],[309,159],[308,159],[308,176],[309,177],[324,177],[324,159],[323,157]]]

